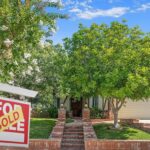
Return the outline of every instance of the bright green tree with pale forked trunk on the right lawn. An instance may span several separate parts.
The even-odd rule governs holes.
[[[137,80],[135,82],[131,80],[131,76],[137,74],[137,68],[142,68],[140,55],[144,47],[142,41],[145,35],[137,27],[129,28],[126,24],[113,22],[105,32],[105,37],[101,57],[104,60],[101,67],[105,68],[101,71],[103,79],[101,92],[111,101],[114,126],[117,128],[118,113],[126,99],[139,100],[145,97],[144,93],[141,93],[144,92],[144,88],[141,88],[141,92],[139,90],[141,93],[139,97],[138,91],[132,90],[132,86],[145,86],[144,82],[142,81],[142,85]],[[147,85],[149,86],[148,82]]]

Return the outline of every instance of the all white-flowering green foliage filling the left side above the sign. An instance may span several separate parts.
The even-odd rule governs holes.
[[[0,2],[0,82],[39,91],[39,102],[45,107],[63,96],[65,54],[50,41],[56,20],[67,18],[57,13],[59,8],[59,2],[43,0]]]

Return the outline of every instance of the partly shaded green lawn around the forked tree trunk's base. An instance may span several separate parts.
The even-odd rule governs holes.
[[[98,139],[150,140],[150,133],[123,126],[122,129],[111,128],[112,124],[94,125]]]

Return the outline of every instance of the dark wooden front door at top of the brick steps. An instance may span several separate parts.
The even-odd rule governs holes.
[[[73,117],[82,117],[82,99],[71,99],[71,110]]]

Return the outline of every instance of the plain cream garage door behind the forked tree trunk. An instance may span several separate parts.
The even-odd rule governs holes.
[[[147,102],[127,100],[126,106],[119,111],[119,118],[150,119],[150,100]]]

